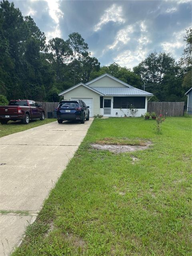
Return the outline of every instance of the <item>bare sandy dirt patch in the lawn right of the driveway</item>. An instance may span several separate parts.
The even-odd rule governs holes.
[[[145,146],[132,146],[132,145],[114,145],[114,144],[91,144],[92,148],[98,149],[98,150],[108,150],[110,152],[113,152],[115,154],[124,153],[124,152],[133,152],[136,150],[145,150],[148,149],[149,146],[152,144],[151,142],[145,142]],[[133,160],[134,161],[134,160]]]

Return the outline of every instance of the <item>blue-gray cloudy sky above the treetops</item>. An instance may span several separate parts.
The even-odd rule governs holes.
[[[11,1],[10,1],[11,2]],[[191,0],[14,0],[30,15],[47,40],[79,32],[101,65],[132,68],[151,52],[178,59],[191,26]]]

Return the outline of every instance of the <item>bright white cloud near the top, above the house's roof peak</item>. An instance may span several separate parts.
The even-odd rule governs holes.
[[[104,11],[103,16],[100,18],[100,22],[94,26],[94,31],[98,31],[104,24],[108,22],[124,23],[125,19],[122,17],[122,7],[112,4],[110,8]]]

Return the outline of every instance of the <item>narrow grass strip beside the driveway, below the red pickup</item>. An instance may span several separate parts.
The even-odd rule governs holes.
[[[0,137],[16,133],[16,132],[22,132],[24,130],[28,130],[30,128],[34,128],[36,126],[40,126],[42,124],[48,124],[50,122],[56,121],[55,118],[51,119],[45,119],[43,121],[40,120],[30,120],[29,124],[22,124],[22,122],[17,121],[9,121],[7,124],[0,124]]]

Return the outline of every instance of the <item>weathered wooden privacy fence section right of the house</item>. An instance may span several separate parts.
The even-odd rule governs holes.
[[[164,116],[183,116],[185,102],[148,102],[147,111]]]

